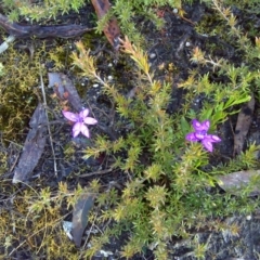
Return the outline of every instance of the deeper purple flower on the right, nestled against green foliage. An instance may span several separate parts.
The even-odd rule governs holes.
[[[214,134],[208,134],[208,130],[210,127],[210,121],[205,120],[199,122],[197,119],[192,120],[192,126],[195,132],[191,132],[186,134],[186,140],[191,142],[202,142],[203,146],[209,151],[213,151],[212,143],[219,143],[221,139]]]

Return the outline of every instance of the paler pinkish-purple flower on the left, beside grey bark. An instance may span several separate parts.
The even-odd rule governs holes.
[[[89,129],[86,125],[95,125],[98,123],[98,120],[93,117],[88,117],[89,109],[86,108],[78,113],[72,113],[72,112],[62,112],[64,117],[66,117],[69,121],[75,122],[73,127],[73,136],[76,138],[80,132],[87,136],[90,138]],[[86,123],[86,125],[84,125]]]

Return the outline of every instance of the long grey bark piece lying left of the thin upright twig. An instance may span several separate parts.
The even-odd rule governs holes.
[[[18,165],[14,169],[13,183],[27,181],[37,166],[46,146],[47,122],[46,109],[39,104],[29,121],[31,129],[26,136]]]

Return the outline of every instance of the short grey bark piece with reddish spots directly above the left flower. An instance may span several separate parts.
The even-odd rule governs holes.
[[[80,112],[83,108],[78,91],[73,84],[73,81],[62,73],[49,73],[49,84],[53,87],[55,94],[60,100],[67,100],[69,104]]]

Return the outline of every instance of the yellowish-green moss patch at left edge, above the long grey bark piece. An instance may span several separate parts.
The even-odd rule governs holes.
[[[0,78],[0,128],[10,140],[17,140],[37,103],[34,89],[39,84],[39,69],[26,52],[12,48],[2,54],[2,63],[5,75]]]

